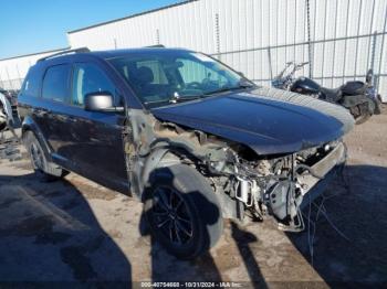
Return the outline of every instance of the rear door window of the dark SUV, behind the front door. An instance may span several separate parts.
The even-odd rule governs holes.
[[[61,64],[50,67],[44,75],[42,97],[56,101],[69,100],[69,77],[71,66]]]

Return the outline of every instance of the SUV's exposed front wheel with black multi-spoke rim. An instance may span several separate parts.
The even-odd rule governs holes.
[[[144,214],[151,234],[174,256],[192,259],[218,242],[221,207],[212,188],[195,169],[158,168],[144,191]]]

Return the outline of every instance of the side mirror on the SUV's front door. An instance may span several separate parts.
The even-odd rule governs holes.
[[[123,107],[115,107],[113,95],[108,92],[96,92],[85,95],[85,110],[90,111],[123,111]]]

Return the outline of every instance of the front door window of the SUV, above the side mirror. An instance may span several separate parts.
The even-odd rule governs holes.
[[[76,64],[73,76],[73,105],[83,106],[85,95],[106,92],[115,95],[115,86],[107,75],[94,64]]]

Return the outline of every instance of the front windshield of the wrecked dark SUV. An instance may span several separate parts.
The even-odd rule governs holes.
[[[109,58],[148,108],[253,84],[213,58],[188,51],[149,51]]]

